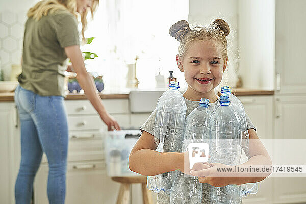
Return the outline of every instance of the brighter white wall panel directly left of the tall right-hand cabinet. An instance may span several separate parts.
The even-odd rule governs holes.
[[[238,0],[239,74],[246,88],[274,88],[275,0]]]

